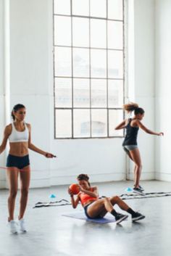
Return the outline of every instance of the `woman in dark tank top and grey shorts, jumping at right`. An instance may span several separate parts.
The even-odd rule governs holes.
[[[135,192],[142,192],[143,188],[140,185],[140,178],[141,178],[141,170],[142,170],[142,162],[141,162],[141,155],[137,145],[137,136],[138,130],[141,128],[143,131],[149,134],[163,136],[164,133],[156,133],[154,131],[150,131],[146,128],[142,123],[144,117],[144,110],[141,107],[138,107],[138,104],[130,102],[129,104],[125,104],[123,109],[126,110],[128,113],[134,111],[133,118],[128,118],[122,121],[120,125],[117,125],[115,130],[126,129],[126,136],[122,143],[123,149],[128,154],[131,160],[135,163],[134,168],[134,187],[133,190]]]

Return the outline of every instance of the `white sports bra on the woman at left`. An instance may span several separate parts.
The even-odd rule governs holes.
[[[29,137],[29,132],[26,124],[25,124],[25,131],[17,131],[16,128],[14,127],[14,123],[12,123],[12,133],[9,135],[9,142],[28,141],[28,137]]]

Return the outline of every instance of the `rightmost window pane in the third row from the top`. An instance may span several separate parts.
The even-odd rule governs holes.
[[[122,51],[108,51],[108,77],[123,78]]]

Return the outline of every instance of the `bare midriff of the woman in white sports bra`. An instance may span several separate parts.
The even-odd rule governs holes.
[[[25,157],[28,154],[28,142],[11,142],[9,143],[10,149],[9,154],[12,154],[16,157]]]

